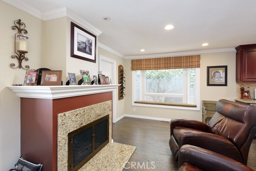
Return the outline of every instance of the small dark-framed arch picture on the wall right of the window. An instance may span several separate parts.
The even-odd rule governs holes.
[[[227,86],[228,66],[208,66],[207,86]]]

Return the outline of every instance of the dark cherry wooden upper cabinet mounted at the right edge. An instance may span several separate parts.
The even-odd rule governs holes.
[[[256,82],[256,44],[236,47],[236,82]]]

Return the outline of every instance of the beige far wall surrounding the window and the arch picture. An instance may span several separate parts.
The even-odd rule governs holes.
[[[233,100],[236,97],[235,83],[235,52],[201,54],[200,66],[200,101],[202,100]],[[207,66],[228,66],[228,86],[206,86],[206,67]],[[126,97],[125,97],[125,113],[127,115],[138,115],[141,117],[158,117],[164,119],[172,118],[188,118],[202,120],[201,111],[166,109],[156,107],[132,106],[131,92],[131,60],[125,60],[126,68]],[[133,111],[133,108],[136,111]],[[135,116],[136,117],[136,116]]]

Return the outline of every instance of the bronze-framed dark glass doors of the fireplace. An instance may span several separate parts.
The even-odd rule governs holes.
[[[68,133],[68,171],[77,171],[109,142],[109,115]]]

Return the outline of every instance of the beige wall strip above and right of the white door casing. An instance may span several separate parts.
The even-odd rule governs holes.
[[[118,66],[124,66],[125,60],[102,48],[98,48],[98,53],[99,55],[116,61],[116,84],[118,84]],[[124,70],[126,70],[126,68],[124,68]],[[116,91],[116,118],[121,117],[124,114],[124,101],[125,99],[118,100],[118,91]]]

